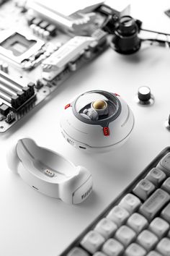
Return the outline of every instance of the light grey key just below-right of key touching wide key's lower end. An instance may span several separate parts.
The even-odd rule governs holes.
[[[147,251],[153,249],[158,242],[158,237],[151,231],[143,230],[137,237],[137,242]]]

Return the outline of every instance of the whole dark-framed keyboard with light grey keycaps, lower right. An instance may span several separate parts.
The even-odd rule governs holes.
[[[170,153],[158,167],[146,168],[109,209],[61,256],[170,256]]]

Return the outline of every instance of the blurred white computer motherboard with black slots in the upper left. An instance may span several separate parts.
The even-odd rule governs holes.
[[[126,12],[99,2],[69,16],[38,1],[0,1],[0,132],[108,47],[104,22]]]

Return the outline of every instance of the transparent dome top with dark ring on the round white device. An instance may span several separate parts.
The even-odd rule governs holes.
[[[109,122],[115,119],[121,111],[117,96],[102,90],[92,90],[81,94],[72,106],[76,117],[91,124]]]

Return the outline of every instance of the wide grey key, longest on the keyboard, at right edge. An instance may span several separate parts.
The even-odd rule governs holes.
[[[169,202],[170,196],[167,192],[162,189],[157,189],[148,200],[140,206],[140,213],[142,213],[148,221],[151,221],[161,208]]]

